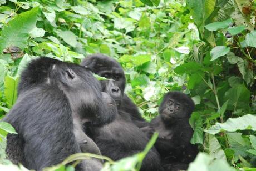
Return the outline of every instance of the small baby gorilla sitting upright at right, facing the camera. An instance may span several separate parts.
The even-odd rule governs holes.
[[[189,118],[194,107],[192,99],[186,94],[169,92],[160,104],[160,116],[150,123],[159,132],[155,147],[165,170],[186,170],[198,153],[196,146],[190,144],[193,129]]]

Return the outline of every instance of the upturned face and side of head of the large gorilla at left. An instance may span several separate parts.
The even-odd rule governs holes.
[[[63,90],[73,115],[77,114],[82,123],[102,124],[114,117],[105,114],[106,105],[99,92],[99,81],[82,66],[71,63],[53,64],[48,84],[57,84]]]

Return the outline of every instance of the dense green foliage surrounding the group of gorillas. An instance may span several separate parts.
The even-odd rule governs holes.
[[[147,120],[157,115],[169,90],[193,98],[191,143],[204,153],[189,170],[256,167],[255,1],[0,0],[0,5],[1,117],[15,103],[19,74],[29,60],[47,56],[79,63],[88,54],[104,53],[124,67],[126,93]],[[3,146],[14,130],[3,122],[0,128]],[[138,156],[112,167],[125,169]],[[8,163],[3,150],[0,157]]]

